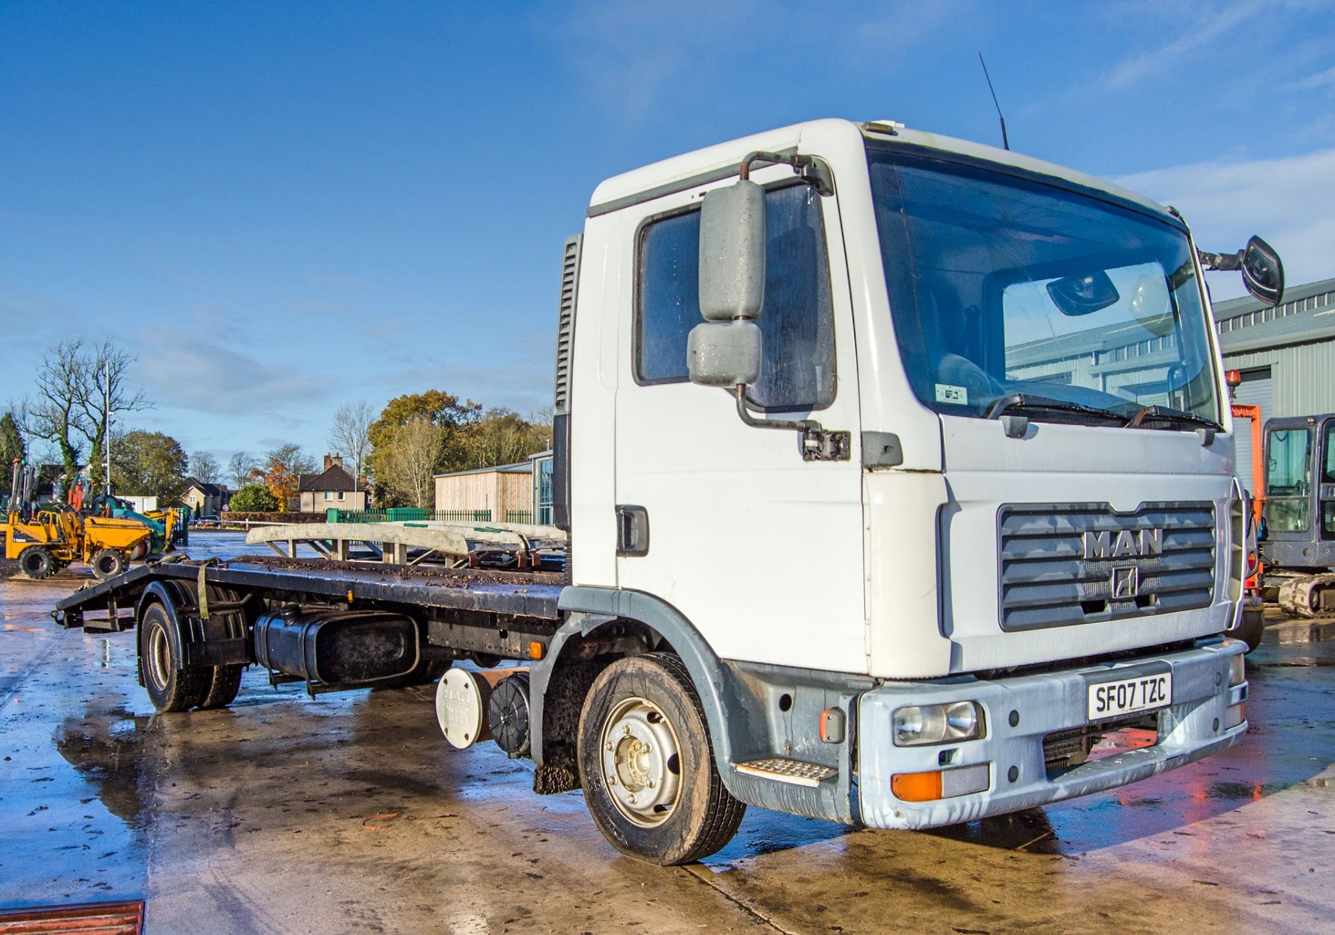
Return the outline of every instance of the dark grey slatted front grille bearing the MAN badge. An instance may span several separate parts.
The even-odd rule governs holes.
[[[1161,530],[1160,548],[1141,544]],[[1085,558],[1085,534],[1129,551]],[[1007,504],[997,512],[1001,628],[1037,630],[1210,607],[1215,594],[1215,504]],[[1137,554],[1144,551],[1144,554]],[[1121,588],[1115,592],[1113,579]],[[1133,587],[1127,587],[1128,579]]]

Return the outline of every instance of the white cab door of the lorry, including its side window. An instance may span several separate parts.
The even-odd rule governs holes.
[[[728,659],[866,671],[853,319],[833,196],[789,169],[766,185],[765,304],[752,413],[850,435],[804,460],[798,433],[742,423],[729,391],[694,385],[701,191],[643,205],[619,328],[617,582],[677,608]],[[724,181],[720,184],[730,184]]]

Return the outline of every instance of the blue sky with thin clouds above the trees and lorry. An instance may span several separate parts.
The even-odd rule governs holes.
[[[0,401],[111,336],[128,424],[220,460],[433,387],[529,412],[601,179],[824,116],[995,144],[979,51],[1015,149],[1335,276],[1332,35],[1262,0],[0,0]]]

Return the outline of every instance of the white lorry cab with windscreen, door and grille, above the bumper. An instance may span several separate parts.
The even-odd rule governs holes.
[[[745,415],[818,423],[829,456],[688,372],[701,207],[752,152],[810,161],[749,171],[765,269]],[[610,457],[570,468],[577,584],[654,595],[728,659],[880,678],[1234,622],[1232,424],[1171,209],[821,120],[603,183],[579,249],[570,448]]]

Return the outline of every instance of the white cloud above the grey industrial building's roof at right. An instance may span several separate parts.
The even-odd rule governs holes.
[[[1202,249],[1232,251],[1259,233],[1296,285],[1335,276],[1335,148],[1282,159],[1219,160],[1152,169],[1117,184],[1172,204]],[[1236,275],[1214,273],[1216,299],[1243,293]]]

